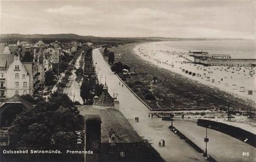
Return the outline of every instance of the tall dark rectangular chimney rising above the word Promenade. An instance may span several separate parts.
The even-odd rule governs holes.
[[[101,143],[101,119],[97,115],[85,116],[85,148],[93,154],[85,154],[86,162],[98,162]]]

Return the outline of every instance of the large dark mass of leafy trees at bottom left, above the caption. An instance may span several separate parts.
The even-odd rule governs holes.
[[[39,101],[16,116],[9,130],[10,143],[36,147],[74,145],[75,132],[82,127],[83,118],[78,108],[69,96],[56,92],[50,95],[48,102]]]

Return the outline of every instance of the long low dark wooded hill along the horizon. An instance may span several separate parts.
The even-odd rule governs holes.
[[[16,43],[19,41],[28,41],[35,43],[39,40],[45,43],[52,41],[68,42],[68,41],[81,41],[92,42],[96,44],[104,43],[136,43],[144,41],[200,41],[200,40],[220,40],[210,38],[169,38],[169,37],[94,37],[91,35],[77,35],[77,34],[0,34],[1,43]],[[221,39],[222,40],[222,39]]]

